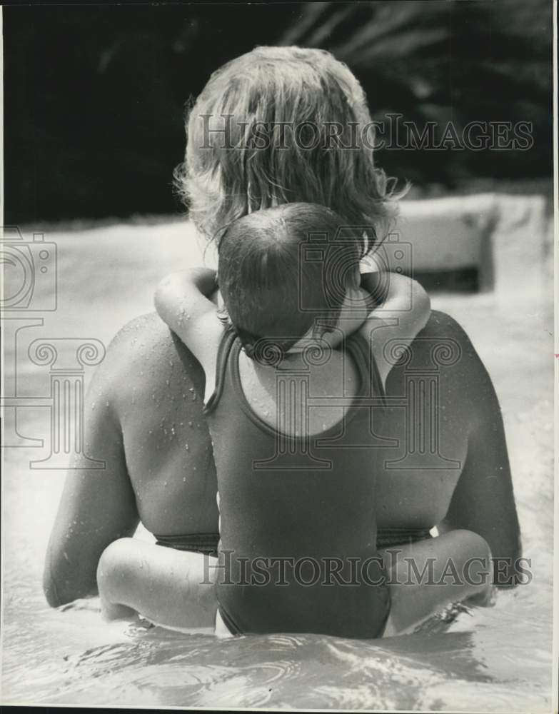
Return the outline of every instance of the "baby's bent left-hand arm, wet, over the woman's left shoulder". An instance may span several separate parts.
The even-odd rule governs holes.
[[[206,373],[204,401],[213,393],[217,346],[223,334],[217,307],[206,297],[216,288],[215,271],[190,268],[163,278],[155,294],[158,315],[181,338]]]

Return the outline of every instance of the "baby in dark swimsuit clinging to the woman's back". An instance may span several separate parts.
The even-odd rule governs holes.
[[[376,549],[371,413],[383,409],[387,341],[411,343],[430,303],[404,276],[362,276],[367,250],[363,229],[344,228],[328,208],[287,203],[221,234],[220,308],[206,268],[176,273],[156,293],[159,315],[206,375],[218,629],[382,635],[390,598]],[[146,549],[146,589],[161,598],[164,623],[159,549]]]

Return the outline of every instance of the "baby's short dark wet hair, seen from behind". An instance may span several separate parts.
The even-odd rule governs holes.
[[[248,356],[272,363],[311,328],[315,336],[333,331],[347,289],[358,287],[367,249],[362,231],[316,203],[286,203],[238,218],[218,243],[221,318]]]

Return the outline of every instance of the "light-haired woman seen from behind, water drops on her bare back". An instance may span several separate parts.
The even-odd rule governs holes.
[[[251,211],[304,201],[375,231],[374,248],[398,196],[373,164],[371,141],[365,97],[346,66],[324,51],[258,48],[214,73],[198,98],[178,183],[207,238]],[[421,369],[433,369],[433,348],[440,344],[452,346],[456,358],[435,365],[441,458],[433,463],[429,449],[407,458],[411,431],[425,433],[432,422],[426,412],[406,421],[405,405],[410,391],[421,388]],[[404,580],[406,555],[419,571],[434,558],[435,581],[449,557],[458,569],[474,555],[512,562],[520,555],[518,518],[488,374],[465,333],[442,313],[433,313],[413,342],[411,360],[416,376],[406,364],[393,368],[382,431],[371,425],[379,438],[368,465],[378,473],[379,548],[404,544],[392,565]],[[89,456],[104,460],[106,469],[69,471],[46,557],[51,605],[95,593],[101,553],[132,535],[141,520],[161,543],[175,546],[161,548],[161,558],[185,573],[183,588],[169,591],[175,624],[213,625],[211,573],[200,555],[215,551],[218,533],[203,392],[200,366],[156,316],[133,321],[111,343],[89,390],[95,408],[86,407],[85,426]],[[433,526],[439,538],[428,538]],[[118,548],[114,543],[104,553],[105,573],[119,560]],[[135,571],[131,563],[129,578]],[[438,605],[485,593],[465,582],[394,588],[386,634]],[[121,603],[118,592],[112,597],[149,615],[148,602]]]

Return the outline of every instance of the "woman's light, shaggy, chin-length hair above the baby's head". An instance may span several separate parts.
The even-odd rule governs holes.
[[[193,104],[175,186],[209,239],[253,211],[305,201],[371,226],[379,242],[402,193],[374,165],[367,125],[371,142],[363,89],[333,55],[257,47],[215,71]]]

